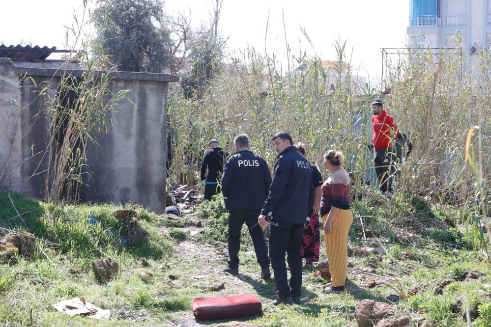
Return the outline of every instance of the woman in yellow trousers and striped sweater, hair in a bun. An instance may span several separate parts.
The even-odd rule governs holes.
[[[350,210],[351,181],[343,164],[343,154],[329,150],[324,155],[324,167],[329,170],[329,178],[322,184],[320,216],[324,221],[324,237],[327,260],[331,271],[332,286],[325,293],[341,293],[345,290],[348,270],[348,232],[353,222]]]

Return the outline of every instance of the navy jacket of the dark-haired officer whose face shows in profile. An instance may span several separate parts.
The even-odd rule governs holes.
[[[272,211],[274,220],[305,222],[314,201],[311,164],[290,146],[278,155],[273,170],[273,181],[261,215]]]

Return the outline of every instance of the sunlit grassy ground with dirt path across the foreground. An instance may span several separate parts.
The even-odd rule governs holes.
[[[4,195],[0,193],[0,197]],[[305,269],[302,296],[308,295],[311,300],[302,306],[271,305],[276,297],[274,280],[260,280],[260,269],[247,227],[243,227],[239,253],[241,277],[221,273],[227,263],[214,245],[226,242],[228,216],[220,196],[213,201],[203,202],[198,208],[197,214],[203,227],[209,230],[208,234],[203,235],[191,236],[184,232],[183,228],[190,226],[186,217],[176,223],[175,219],[137,208],[140,223],[148,235],[144,242],[132,245],[121,244],[115,235],[106,235],[108,229],[117,228],[112,212],[120,207],[47,205],[16,194],[12,194],[12,198],[16,206],[23,210],[36,210],[35,215],[24,216],[25,224],[18,218],[12,219],[11,223],[15,223],[15,228],[33,232],[36,237],[59,243],[60,246],[42,245],[51,262],[44,254],[36,251],[30,258],[19,256],[8,263],[0,264],[0,324],[16,322],[21,326],[154,326],[161,325],[164,319],[181,323],[192,320],[190,305],[197,297],[251,293],[263,302],[263,315],[242,318],[239,321],[263,326],[355,326],[351,315],[358,301],[387,301],[385,298],[388,295],[395,294],[393,289],[382,285],[374,289],[362,288],[345,294],[326,296],[322,294],[320,287],[330,279],[319,279],[314,273],[315,269]],[[372,203],[367,205],[371,206],[370,210],[374,213],[377,212],[376,215],[383,210]],[[10,211],[8,207],[2,206],[1,210]],[[355,213],[361,208],[358,203],[354,207]],[[408,211],[412,208],[406,207]],[[1,213],[2,217],[5,216],[4,212]],[[97,224],[88,223],[89,212],[98,219]],[[57,221],[43,218],[45,214],[57,217]],[[10,217],[13,216],[15,214]],[[434,219],[443,219],[443,216],[435,212]],[[71,227],[69,223],[72,224]],[[374,225],[375,223],[376,220],[373,221]],[[169,233],[164,234],[167,236],[159,231],[162,227],[169,229]],[[462,225],[458,227],[462,231]],[[455,244],[459,242],[460,234],[455,229],[448,229],[440,234],[436,229],[429,230],[432,238]],[[358,232],[356,230],[349,241],[353,247],[367,245],[357,240],[360,237]],[[417,244],[439,248],[437,244],[431,244],[425,239],[419,239]],[[194,247],[189,249],[186,247],[188,245]],[[490,306],[480,290],[491,292],[491,289],[484,286],[491,283],[491,267],[482,260],[479,252],[465,247],[457,248],[451,254],[449,249],[447,253],[441,253],[404,245],[384,246],[388,248],[388,254],[382,256],[382,259],[392,258],[396,265],[380,262],[373,255],[366,258],[351,257],[349,261],[357,269],[364,269],[365,264],[372,263],[376,266],[377,274],[395,273],[403,276],[401,285],[404,292],[417,282],[425,283],[435,278],[458,280],[448,285],[441,295],[434,295],[434,287],[428,287],[421,293],[400,301],[398,312],[408,313],[412,319],[419,317],[433,322],[435,326],[450,327],[465,324],[462,315],[469,307],[479,316],[473,326],[489,325]],[[98,249],[119,263],[119,275],[106,283],[98,282],[91,269],[94,258],[104,257]],[[411,254],[414,259],[403,260],[404,253]],[[137,261],[142,256],[148,259],[151,267],[138,266]],[[323,248],[321,261],[325,261]],[[70,268],[79,269],[80,274],[69,273]],[[470,270],[478,270],[484,276],[477,281],[460,282]],[[356,274],[349,273],[348,285],[354,283],[363,286],[364,281],[354,279]],[[170,275],[175,279],[171,279]],[[225,290],[208,290],[209,286],[223,282]],[[112,318],[95,321],[84,317],[70,317],[51,307],[53,303],[73,297],[84,297],[103,309],[110,309]],[[458,302],[458,299],[462,300]],[[148,315],[142,314],[142,309]],[[215,323],[225,322],[227,321]]]

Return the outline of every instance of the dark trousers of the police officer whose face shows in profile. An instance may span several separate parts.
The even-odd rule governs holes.
[[[269,258],[274,272],[278,296],[282,299],[302,294],[302,244],[303,223],[288,223],[271,220],[269,234]],[[290,267],[290,284],[287,278],[285,253]]]

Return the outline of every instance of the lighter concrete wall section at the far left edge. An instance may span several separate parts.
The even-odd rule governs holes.
[[[12,61],[0,58],[0,190],[21,186],[21,93]]]

